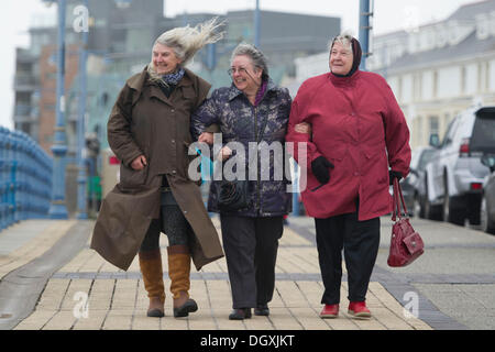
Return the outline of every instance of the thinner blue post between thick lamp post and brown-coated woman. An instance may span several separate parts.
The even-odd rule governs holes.
[[[86,9],[88,9],[88,0],[82,1]],[[86,62],[88,57],[88,28],[81,31],[81,42],[79,46],[79,99],[78,99],[78,117],[77,117],[77,219],[88,219],[87,202],[86,202],[86,157],[84,155],[85,150],[85,131],[86,131]]]

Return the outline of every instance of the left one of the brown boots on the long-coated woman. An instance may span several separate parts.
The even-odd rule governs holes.
[[[144,288],[150,297],[148,317],[165,316],[165,288],[163,284],[162,253],[158,250],[140,252],[140,267]]]

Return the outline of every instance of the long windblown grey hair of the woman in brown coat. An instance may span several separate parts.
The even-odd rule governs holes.
[[[219,22],[218,18],[213,18],[194,28],[189,25],[176,28],[161,34],[153,46],[160,43],[170,47],[180,59],[180,65],[185,66],[201,47],[216,43],[223,37],[226,32],[217,33],[217,30],[226,21]],[[152,80],[162,80],[162,77],[156,74],[153,61],[147,65],[147,73]]]

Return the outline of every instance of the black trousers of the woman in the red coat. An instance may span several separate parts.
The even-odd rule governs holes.
[[[348,270],[349,300],[366,298],[371,274],[380,246],[380,218],[358,220],[358,212],[315,219],[318,260],[324,293],[321,302],[340,302],[342,249]]]

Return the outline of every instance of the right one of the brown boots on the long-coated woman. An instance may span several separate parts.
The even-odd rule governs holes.
[[[187,245],[172,245],[168,252],[168,276],[174,295],[174,317],[187,317],[198,310],[198,305],[189,298],[190,254]]]

